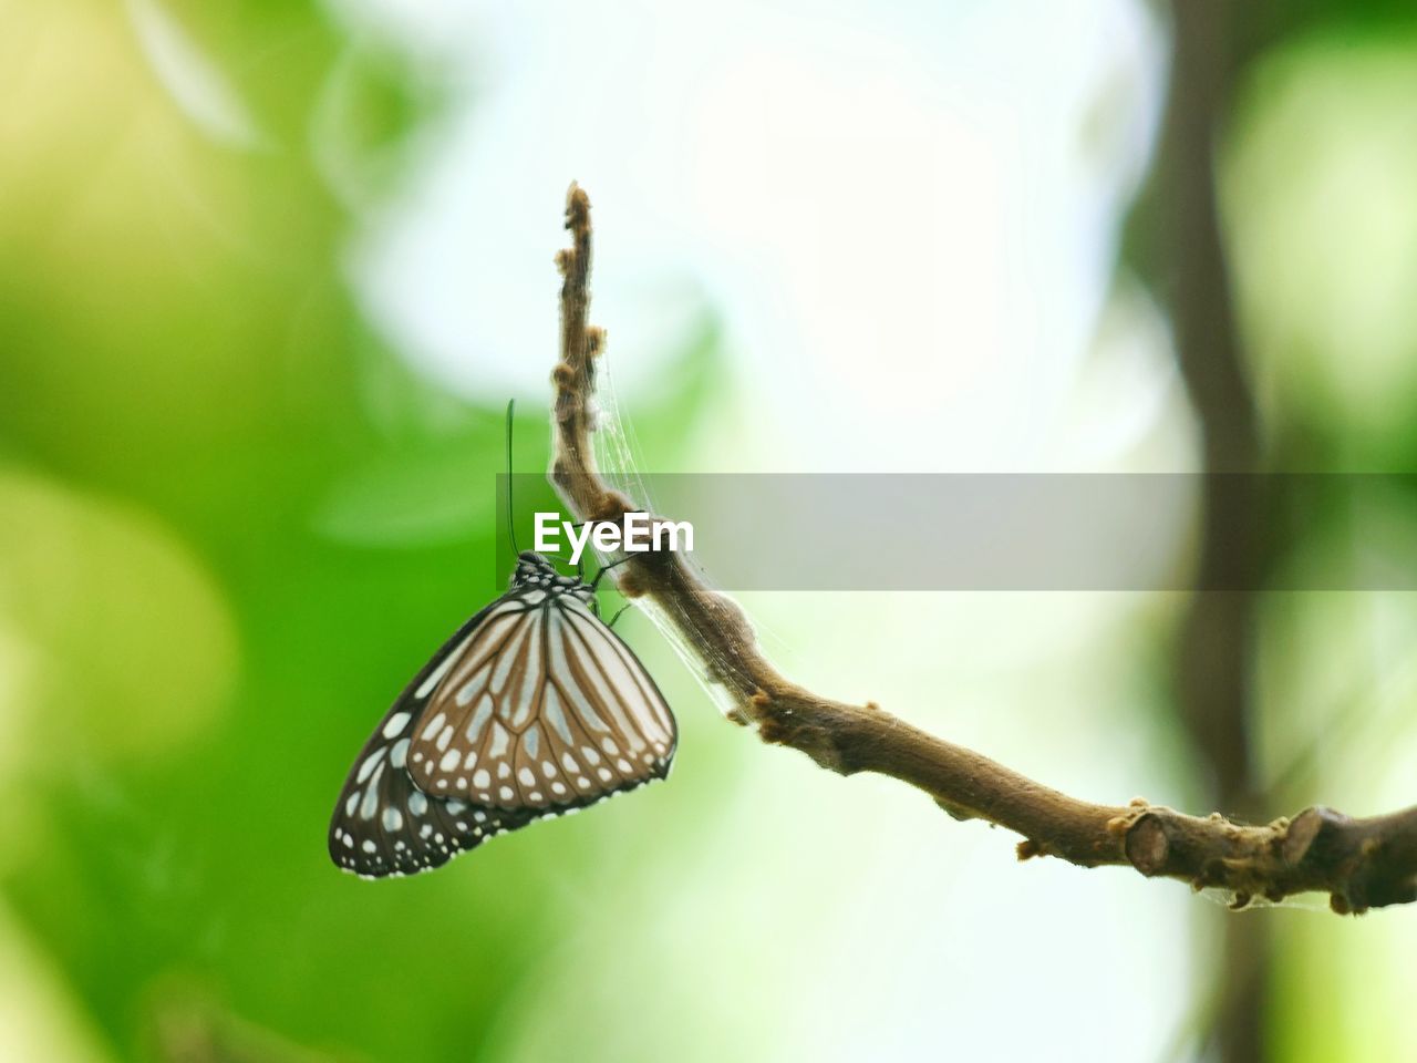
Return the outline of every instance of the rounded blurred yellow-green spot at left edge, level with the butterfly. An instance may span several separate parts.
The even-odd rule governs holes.
[[[152,755],[210,727],[237,638],[197,558],[150,517],[14,472],[0,514],[0,618],[33,660],[3,709],[28,717],[27,760]]]

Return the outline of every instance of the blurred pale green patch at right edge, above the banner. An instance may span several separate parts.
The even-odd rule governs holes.
[[[1406,468],[1417,438],[1413,99],[1411,34],[1288,44],[1246,79],[1224,156],[1261,398],[1281,429],[1335,439],[1348,468]]]

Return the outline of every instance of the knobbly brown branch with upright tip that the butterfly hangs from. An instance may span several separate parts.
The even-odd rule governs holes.
[[[587,323],[591,272],[589,198],[571,186],[557,255],[561,361],[551,479],[581,520],[619,523],[633,502],[604,482],[591,442],[595,360],[605,333]],[[615,570],[622,594],[659,607],[733,697],[735,723],[789,746],[840,775],[873,771],[928,794],[955,819],[985,819],[1023,835],[1020,860],[1057,856],[1083,867],[1131,866],[1148,877],[1220,887],[1241,909],[1323,890],[1339,913],[1417,900],[1417,806],[1370,819],[1309,808],[1291,819],[1246,825],[1220,814],[1189,816],[1141,798],[1095,805],[1050,789],[972,750],[937,738],[880,706],[835,702],[784,677],[758,649],[738,605],[711,590],[676,553],[633,554]]]

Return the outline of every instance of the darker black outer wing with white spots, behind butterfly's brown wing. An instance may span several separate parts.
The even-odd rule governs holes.
[[[534,818],[428,797],[407,770],[411,733],[436,677],[456,662],[470,635],[502,604],[499,600],[479,612],[434,655],[364,744],[330,819],[329,848],[336,866],[367,877],[414,874]]]

